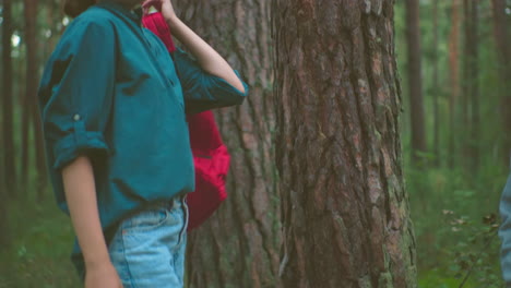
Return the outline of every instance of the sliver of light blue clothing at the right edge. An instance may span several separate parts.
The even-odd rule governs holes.
[[[502,240],[500,263],[506,287],[511,287],[511,175],[500,199],[500,217],[502,219],[499,229],[499,237]]]

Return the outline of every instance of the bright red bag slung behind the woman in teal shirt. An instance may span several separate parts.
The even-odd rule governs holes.
[[[162,39],[169,52],[176,50],[162,13],[145,15],[142,24]],[[229,154],[222,142],[213,112],[187,116],[187,120],[195,165],[195,191],[187,195],[190,212],[188,230],[191,230],[207,219],[227,197],[225,177],[229,169]]]

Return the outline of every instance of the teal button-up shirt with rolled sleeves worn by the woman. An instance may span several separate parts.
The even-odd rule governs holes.
[[[38,92],[58,205],[69,213],[62,167],[90,156],[107,241],[127,216],[194,190],[186,112],[238,105],[248,93],[245,82],[241,93],[180,49],[171,56],[140,23],[111,1],[82,13],[51,55]]]

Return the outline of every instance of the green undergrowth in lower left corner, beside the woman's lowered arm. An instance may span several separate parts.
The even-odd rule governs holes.
[[[70,220],[55,202],[10,202],[9,215],[12,243],[0,255],[0,288],[80,287]]]

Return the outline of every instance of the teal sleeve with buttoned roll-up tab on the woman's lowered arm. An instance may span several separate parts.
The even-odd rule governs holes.
[[[115,84],[115,34],[108,23],[70,26],[39,87],[43,130],[54,169],[82,154],[108,154],[105,128]]]

